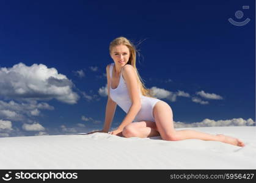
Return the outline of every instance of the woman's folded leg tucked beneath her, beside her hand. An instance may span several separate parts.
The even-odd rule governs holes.
[[[123,128],[123,137],[155,137],[159,136],[156,130],[156,123],[153,121],[140,121],[128,124]]]

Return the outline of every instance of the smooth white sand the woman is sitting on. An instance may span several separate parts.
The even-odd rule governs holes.
[[[184,129],[184,128],[183,128]],[[195,127],[237,137],[221,142],[124,138],[106,133],[0,138],[1,169],[255,169],[256,127]],[[177,129],[179,130],[179,129]]]

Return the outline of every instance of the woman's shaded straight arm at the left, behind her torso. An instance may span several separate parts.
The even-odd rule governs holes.
[[[111,87],[111,78],[109,73],[109,66],[106,66],[106,75],[108,80],[108,102],[106,105],[106,112],[105,112],[105,122],[103,127],[103,132],[108,132],[109,128],[111,127],[112,120],[114,118],[115,109],[117,107],[117,103],[112,101],[111,97],[109,96],[109,90]]]

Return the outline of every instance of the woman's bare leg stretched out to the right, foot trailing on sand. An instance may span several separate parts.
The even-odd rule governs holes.
[[[241,140],[225,135],[211,135],[193,130],[176,131],[174,129],[172,109],[164,101],[156,103],[153,109],[153,115],[156,121],[157,130],[163,140],[185,140],[195,138],[200,140],[214,140],[236,146],[244,146],[244,143],[241,142]]]

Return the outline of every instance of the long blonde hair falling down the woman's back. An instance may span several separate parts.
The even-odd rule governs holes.
[[[117,37],[114,40],[111,41],[110,45],[109,45],[109,54],[111,54],[112,48],[114,48],[115,46],[119,46],[119,45],[125,45],[128,47],[129,51],[130,51],[130,58],[128,60],[128,62],[126,64],[130,64],[131,66],[133,66],[133,68],[136,70],[137,73],[137,81],[139,83],[139,86],[141,88],[141,93],[144,96],[148,96],[151,98],[155,98],[153,96],[153,91],[150,89],[147,89],[144,85],[144,82],[142,81],[141,76],[139,76],[139,73],[137,71],[136,68],[136,46],[133,45],[133,43],[131,43],[130,40],[128,40],[125,37]]]

